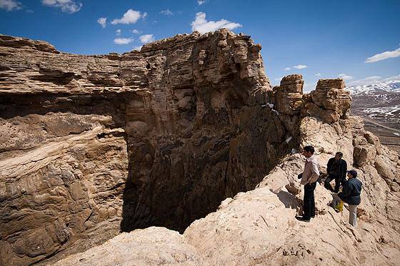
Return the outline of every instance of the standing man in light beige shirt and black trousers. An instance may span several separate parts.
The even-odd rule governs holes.
[[[304,147],[301,154],[306,157],[300,181],[300,184],[304,185],[303,216],[296,217],[296,219],[309,222],[311,218],[315,217],[314,190],[316,188],[316,180],[319,178],[318,160],[314,156],[313,146]]]

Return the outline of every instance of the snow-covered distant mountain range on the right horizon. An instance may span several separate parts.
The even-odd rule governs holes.
[[[400,81],[383,81],[369,85],[350,86],[346,89],[349,90],[353,96],[384,92],[400,93]]]

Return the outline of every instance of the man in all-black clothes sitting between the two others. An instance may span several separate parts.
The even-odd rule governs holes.
[[[326,172],[328,177],[324,181],[324,187],[334,193],[339,192],[340,185],[344,184],[346,181],[347,163],[346,160],[342,159],[343,153],[338,151],[334,158],[328,160],[328,165],[326,165]],[[331,187],[331,181],[335,180],[335,188]]]

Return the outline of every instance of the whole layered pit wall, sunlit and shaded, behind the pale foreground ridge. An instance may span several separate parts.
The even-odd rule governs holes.
[[[1,263],[182,232],[254,189],[298,145],[260,49],[226,30],[105,56],[0,36]]]

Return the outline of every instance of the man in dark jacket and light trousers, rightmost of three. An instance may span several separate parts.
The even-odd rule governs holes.
[[[349,223],[354,227],[357,226],[357,206],[361,203],[362,183],[357,179],[357,172],[349,170],[347,172],[347,180],[343,184],[343,191],[337,196],[349,205]]]

